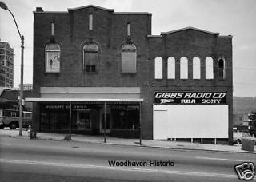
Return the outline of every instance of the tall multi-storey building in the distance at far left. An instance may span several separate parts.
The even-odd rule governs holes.
[[[0,87],[14,88],[14,49],[0,42]]]

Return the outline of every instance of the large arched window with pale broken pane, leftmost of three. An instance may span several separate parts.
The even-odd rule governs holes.
[[[46,45],[45,53],[46,73],[59,73],[61,53],[60,46],[58,44],[50,43]]]

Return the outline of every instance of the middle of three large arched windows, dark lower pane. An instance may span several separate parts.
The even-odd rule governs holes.
[[[94,43],[83,47],[83,69],[90,73],[98,71],[98,46]]]

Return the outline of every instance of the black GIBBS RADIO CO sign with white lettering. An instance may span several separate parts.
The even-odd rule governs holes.
[[[169,92],[155,91],[154,104],[226,104],[226,92]]]

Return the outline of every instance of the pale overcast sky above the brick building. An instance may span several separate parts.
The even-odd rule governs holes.
[[[256,97],[255,0],[0,0],[12,11],[25,37],[24,83],[33,82],[33,11],[67,11],[95,5],[115,12],[149,12],[152,34],[188,26],[233,36],[234,96]],[[20,83],[21,42],[10,13],[0,9],[0,39],[14,48],[14,86]]]

